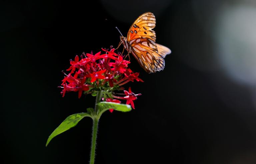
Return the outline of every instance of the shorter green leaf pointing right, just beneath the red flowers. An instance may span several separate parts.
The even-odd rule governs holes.
[[[119,104],[114,102],[100,102],[98,105],[98,116],[100,117],[102,113],[109,109],[114,109],[121,112],[129,112],[132,110],[131,105]]]

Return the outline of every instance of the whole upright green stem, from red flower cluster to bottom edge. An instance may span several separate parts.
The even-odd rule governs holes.
[[[96,102],[95,102],[95,108],[94,112],[97,114],[98,112],[98,103],[100,102],[101,99],[101,91],[98,91],[97,97],[96,97]],[[94,159],[95,159],[95,149],[96,149],[96,139],[97,139],[97,132],[98,132],[98,123],[99,119],[97,116],[93,118],[93,126],[92,126],[92,145],[91,145],[91,157],[90,157],[90,164],[94,164]]]

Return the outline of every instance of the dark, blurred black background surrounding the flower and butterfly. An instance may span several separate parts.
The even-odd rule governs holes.
[[[252,77],[248,71],[235,70],[235,77],[227,71],[229,65],[218,56],[225,54],[220,48],[223,44],[219,45],[218,36],[222,35],[215,35],[219,18],[223,18],[218,14],[240,5],[252,7],[255,3],[1,2],[1,160],[88,163],[89,118],[45,147],[48,136],[67,116],[94,106],[94,97],[89,95],[78,99],[77,93],[68,93],[61,97],[57,88],[63,78],[61,70],[82,52],[117,47],[115,26],[126,35],[140,14],[151,11],[157,20],[157,42],[169,47],[172,54],[165,59],[164,71],[155,74],[144,72],[132,57],[130,67],[140,72],[145,82],[125,87],[131,86],[142,96],[131,112],[103,114],[95,163],[256,163],[255,81],[248,79]],[[224,48],[232,47],[236,45]],[[235,64],[228,68],[240,68]],[[240,75],[244,75],[241,81],[237,78]]]

